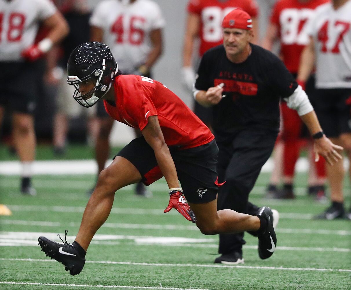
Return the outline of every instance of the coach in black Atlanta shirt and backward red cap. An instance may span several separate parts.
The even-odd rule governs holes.
[[[223,20],[223,45],[208,50],[198,69],[194,98],[204,107],[213,106],[213,130],[219,147],[218,210],[256,214],[248,202],[261,167],[272,153],[279,131],[279,99],[296,109],[314,138],[318,160],[330,164],[341,159],[323,134],[313,107],[304,92],[273,53],[250,40],[249,14],[234,9]],[[220,234],[215,263],[243,263],[244,233]]]

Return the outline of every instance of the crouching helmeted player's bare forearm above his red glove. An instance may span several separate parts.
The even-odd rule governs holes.
[[[168,187],[178,188],[179,181],[177,170],[167,144],[163,142],[153,149],[157,164],[160,167],[163,176],[165,176]]]

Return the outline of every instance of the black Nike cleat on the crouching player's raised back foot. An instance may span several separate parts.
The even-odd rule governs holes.
[[[267,221],[264,233],[258,234],[258,256],[267,259],[272,256],[277,246],[277,236],[273,227],[273,213],[269,207],[261,207],[257,214]]]

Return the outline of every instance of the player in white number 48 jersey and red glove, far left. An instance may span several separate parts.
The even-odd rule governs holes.
[[[40,24],[47,36],[35,43]],[[42,71],[37,60],[67,33],[67,22],[49,0],[0,0],[0,125],[6,108],[12,112],[23,194],[36,193],[31,176],[36,146],[33,114]]]

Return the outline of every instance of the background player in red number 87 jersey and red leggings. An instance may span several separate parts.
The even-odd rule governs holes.
[[[271,50],[273,42],[279,39],[280,56],[294,77],[297,76],[301,52],[309,41],[306,28],[313,19],[316,8],[326,2],[328,0],[279,0],[273,7],[270,24],[262,46],[265,49]],[[315,98],[313,76],[306,83],[306,93],[313,105]],[[268,191],[272,191],[275,198],[289,199],[294,198],[293,176],[295,164],[299,156],[300,136],[303,124],[296,111],[287,107],[286,102],[282,101],[280,108],[283,121],[280,137],[284,144],[284,149],[282,160],[279,158],[277,161],[283,162],[284,188],[282,192],[278,192],[276,185],[272,184],[269,186]],[[316,194],[319,200],[323,200],[325,199],[325,161],[321,158],[314,165],[313,156],[311,157],[309,193]],[[279,165],[275,164],[275,166]],[[311,172],[314,173],[312,174],[314,178],[311,176]],[[315,173],[317,173],[317,176]]]

